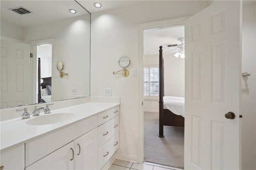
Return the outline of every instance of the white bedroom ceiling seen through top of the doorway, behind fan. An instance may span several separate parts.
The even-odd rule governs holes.
[[[163,46],[163,54],[174,51],[175,49],[164,46],[181,43],[178,38],[184,37],[184,34],[184,26],[144,31],[144,56],[159,55],[161,45]]]

